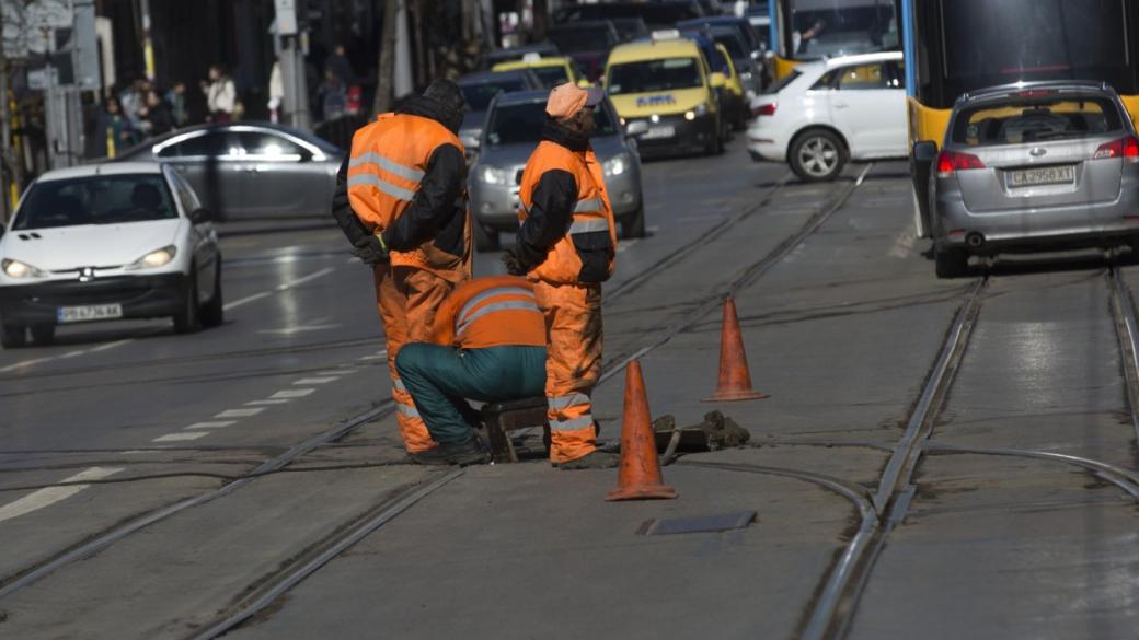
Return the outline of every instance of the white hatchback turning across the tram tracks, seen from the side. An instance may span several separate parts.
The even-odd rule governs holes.
[[[752,159],[786,162],[803,180],[833,180],[847,161],[906,157],[901,51],[796,67],[752,100]]]

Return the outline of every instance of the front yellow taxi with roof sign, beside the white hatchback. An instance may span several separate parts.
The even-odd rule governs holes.
[[[614,47],[605,66],[606,93],[642,156],[723,151],[718,91],[726,82],[697,43],[677,31]]]

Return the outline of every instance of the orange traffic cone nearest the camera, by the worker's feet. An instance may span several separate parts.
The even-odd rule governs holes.
[[[649,424],[648,399],[640,362],[625,368],[625,415],[621,425],[621,468],[617,489],[606,500],[670,500],[677,490],[664,485]]]

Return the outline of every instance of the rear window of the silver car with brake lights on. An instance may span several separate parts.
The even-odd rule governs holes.
[[[1027,92],[1026,92],[1027,93]],[[1123,134],[1123,115],[1104,96],[1026,97],[961,109],[951,140],[986,147]]]

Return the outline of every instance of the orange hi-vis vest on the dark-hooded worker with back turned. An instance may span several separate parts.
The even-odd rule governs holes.
[[[445,126],[410,114],[380,114],[355,132],[349,161],[349,202],[369,230],[384,231],[408,208],[440,145],[454,145],[464,151],[462,142]],[[459,205],[469,211],[466,189]],[[464,233],[466,255],[452,255],[427,240],[410,252],[392,251],[392,266],[424,269],[452,282],[465,280],[470,277],[469,213]]]

